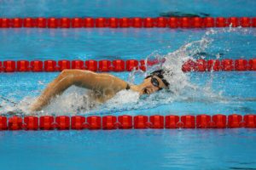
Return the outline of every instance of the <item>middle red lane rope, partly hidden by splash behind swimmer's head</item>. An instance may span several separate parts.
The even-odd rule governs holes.
[[[42,71],[63,71],[65,69],[79,69],[88,71],[146,71],[147,66],[165,62],[158,60],[137,60],[137,59],[102,59],[99,61],[90,60],[5,60],[0,61],[0,72],[42,72]],[[197,59],[187,60],[182,66],[187,71],[256,71],[256,59]]]

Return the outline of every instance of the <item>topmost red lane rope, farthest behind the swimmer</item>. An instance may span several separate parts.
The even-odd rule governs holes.
[[[256,17],[0,18],[0,28],[207,28],[256,27]]]

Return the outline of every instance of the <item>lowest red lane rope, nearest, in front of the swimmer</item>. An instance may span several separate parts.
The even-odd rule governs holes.
[[[0,130],[256,128],[256,115],[0,116]]]

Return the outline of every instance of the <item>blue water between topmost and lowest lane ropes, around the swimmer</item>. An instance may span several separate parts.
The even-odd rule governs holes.
[[[255,54],[255,29],[224,28],[201,30],[170,29],[9,29],[0,31],[0,47],[4,59],[174,59],[170,64],[188,56],[194,59],[252,59]],[[21,36],[20,36],[21,35]],[[199,41],[199,42],[198,42]],[[241,41],[245,41],[241,44]],[[125,44],[125,45],[124,45]],[[188,46],[188,47],[186,47]],[[186,48],[183,48],[186,47]],[[53,50],[54,48],[54,50]],[[27,57],[24,57],[27,56]],[[180,67],[177,68],[180,70]],[[148,68],[152,71],[154,68]],[[11,73],[2,74],[1,95],[22,101],[25,111],[27,104],[38,96],[59,73]],[[132,83],[140,83],[145,74],[137,71],[112,73]],[[172,87],[184,83],[191,87],[178,89],[177,94],[160,92],[147,99],[113,99],[107,105],[80,114],[247,114],[255,111],[255,73],[235,72],[192,72],[174,77]],[[184,76],[182,82],[179,77]],[[176,79],[177,81],[175,81]],[[134,79],[134,80],[133,80]],[[10,81],[11,80],[11,81]],[[15,83],[14,83],[15,82]],[[172,88],[171,87],[171,88]],[[14,92],[10,89],[15,89]],[[50,113],[58,115],[76,114],[72,105],[81,100],[82,89],[72,88],[64,98],[50,105]],[[119,97],[122,95],[120,94]],[[158,99],[157,101],[155,99]],[[25,103],[23,102],[25,101]],[[62,102],[61,102],[62,101]],[[67,101],[63,103],[63,101]],[[121,101],[121,102],[119,102]],[[155,102],[153,102],[155,101]],[[129,105],[129,102],[131,104]],[[136,104],[136,105],[134,105]],[[5,105],[5,104],[2,104]],[[9,103],[5,110],[11,111]],[[79,104],[84,105],[83,103]],[[79,105],[76,105],[77,108]],[[51,107],[52,106],[52,107]],[[56,108],[57,111],[56,111]]]

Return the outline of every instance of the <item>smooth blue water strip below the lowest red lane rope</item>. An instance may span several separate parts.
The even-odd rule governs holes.
[[[26,162],[45,169],[112,167],[114,169],[227,169],[255,168],[255,129],[166,129],[109,131],[1,132],[2,167]],[[21,156],[22,155],[22,156]],[[26,155],[26,156],[24,156]],[[94,162],[100,160],[101,165]],[[63,161],[68,160],[68,161]],[[136,164],[134,164],[136,160]],[[122,163],[117,163],[122,162]],[[134,168],[133,168],[133,166]]]

